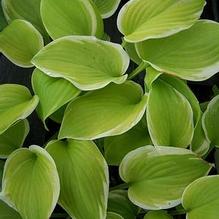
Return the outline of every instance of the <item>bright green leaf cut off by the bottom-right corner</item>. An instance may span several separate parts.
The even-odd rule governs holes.
[[[182,204],[187,219],[218,219],[219,176],[206,176],[192,182],[184,191]]]

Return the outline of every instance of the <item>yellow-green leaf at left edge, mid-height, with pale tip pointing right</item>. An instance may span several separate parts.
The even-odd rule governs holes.
[[[0,134],[19,120],[27,118],[36,108],[38,97],[18,84],[0,85]]]

